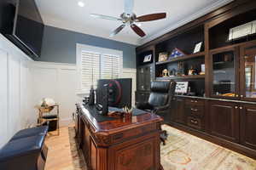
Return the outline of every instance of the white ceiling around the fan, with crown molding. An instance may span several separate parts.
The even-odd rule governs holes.
[[[141,28],[147,34],[143,38],[131,31],[129,26],[117,36],[109,37],[110,32],[121,23],[90,17],[91,13],[118,17],[124,12],[122,0],[82,0],[85,4],[83,8],[79,7],[79,1],[81,0],[36,0],[36,3],[47,26],[140,45],[233,0],[135,0],[134,13],[137,16],[167,13],[165,20],[142,23]]]

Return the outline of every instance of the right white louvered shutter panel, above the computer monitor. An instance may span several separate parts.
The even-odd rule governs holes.
[[[121,59],[119,56],[102,54],[102,79],[115,79],[120,75]]]

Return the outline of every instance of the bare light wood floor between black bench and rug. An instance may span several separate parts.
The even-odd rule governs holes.
[[[73,161],[70,151],[68,127],[61,127],[60,136],[49,135],[45,144],[48,147],[48,156],[45,170],[73,170]]]

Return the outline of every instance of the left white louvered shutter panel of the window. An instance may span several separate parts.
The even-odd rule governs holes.
[[[101,54],[82,51],[81,53],[81,88],[89,92],[91,85],[96,88],[100,78]]]

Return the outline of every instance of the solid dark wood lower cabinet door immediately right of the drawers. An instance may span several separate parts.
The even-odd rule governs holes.
[[[210,131],[213,135],[239,141],[239,107],[228,102],[210,103]]]

